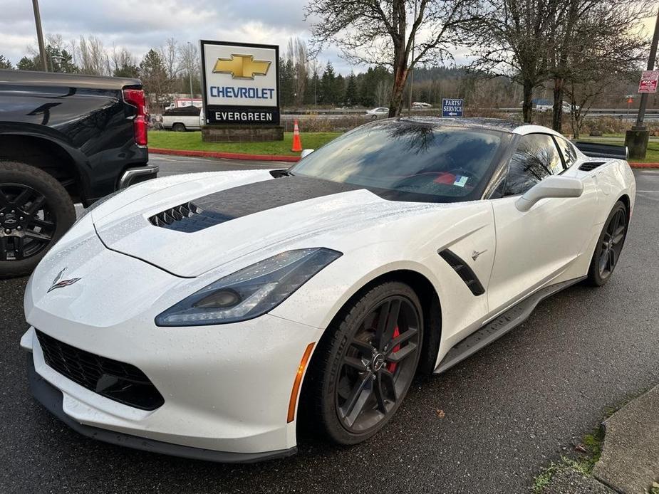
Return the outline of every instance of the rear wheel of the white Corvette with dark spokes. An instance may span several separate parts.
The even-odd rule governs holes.
[[[611,209],[597,240],[591,266],[588,268],[590,285],[602,286],[611,279],[625,245],[627,226],[627,207],[622,201],[618,201]]]

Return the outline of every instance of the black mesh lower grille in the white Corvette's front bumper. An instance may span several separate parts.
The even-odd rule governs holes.
[[[67,345],[36,330],[48,367],[106,398],[142,410],[155,410],[165,400],[134,365],[107,359]]]

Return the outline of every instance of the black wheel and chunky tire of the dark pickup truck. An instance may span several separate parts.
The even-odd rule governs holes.
[[[31,273],[74,221],[73,201],[51,175],[0,162],[0,278]]]

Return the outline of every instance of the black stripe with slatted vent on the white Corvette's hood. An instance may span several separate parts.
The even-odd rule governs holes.
[[[194,233],[225,221],[287,204],[363,187],[311,177],[284,176],[202,196],[151,216],[155,226]]]

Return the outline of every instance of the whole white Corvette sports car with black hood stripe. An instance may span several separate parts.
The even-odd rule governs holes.
[[[190,458],[292,454],[301,418],[363,441],[416,372],[611,277],[634,177],[624,149],[586,153],[544,127],[408,118],[288,171],[131,186],[28,283],[32,393],[88,436]]]

